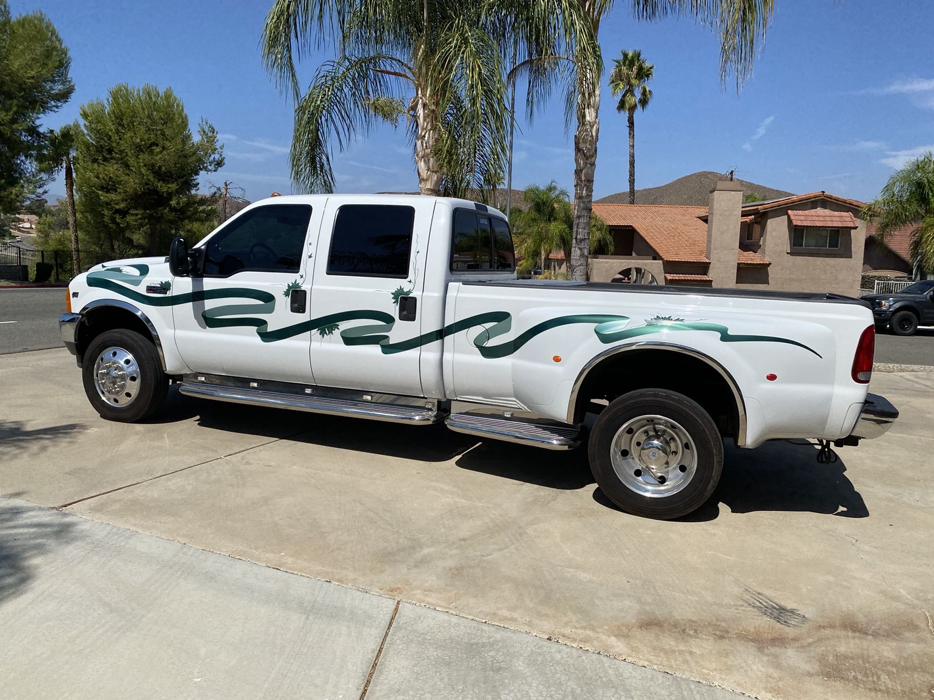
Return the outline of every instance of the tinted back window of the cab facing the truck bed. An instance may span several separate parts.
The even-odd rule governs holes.
[[[512,270],[515,266],[509,225],[498,217],[455,212],[451,250],[452,272]]]

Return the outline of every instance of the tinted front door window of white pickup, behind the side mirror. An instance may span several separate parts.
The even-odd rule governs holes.
[[[311,207],[270,204],[236,217],[207,242],[205,274],[297,272]]]

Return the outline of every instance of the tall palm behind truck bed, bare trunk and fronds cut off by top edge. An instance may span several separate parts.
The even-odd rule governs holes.
[[[568,80],[565,118],[577,121],[574,133],[574,238],[570,260],[572,279],[587,279],[593,177],[600,135],[600,77],[602,60],[597,37],[603,16],[614,0],[488,0],[524,40],[533,40],[542,27],[553,28],[557,49],[573,53],[574,71]],[[739,90],[752,72],[758,45],[765,39],[774,0],[630,0],[640,21],[687,17],[713,27],[720,37],[720,77],[735,74]],[[556,53],[558,50],[556,49]]]

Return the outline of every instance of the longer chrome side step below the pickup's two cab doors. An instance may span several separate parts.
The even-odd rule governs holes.
[[[321,396],[297,396],[285,392],[263,391],[262,389],[205,384],[202,382],[197,384],[182,382],[178,385],[178,391],[186,396],[244,403],[248,406],[272,406],[273,408],[310,413],[349,415],[357,418],[370,418],[372,420],[407,423],[409,425],[431,425],[440,421],[446,414],[444,411],[439,410],[436,404],[432,404],[432,408],[428,408],[426,406],[418,407],[399,403],[334,399]]]

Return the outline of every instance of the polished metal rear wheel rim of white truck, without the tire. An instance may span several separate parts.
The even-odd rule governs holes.
[[[697,471],[694,439],[663,415],[640,415],[616,431],[610,453],[619,481],[647,497],[672,496]]]

